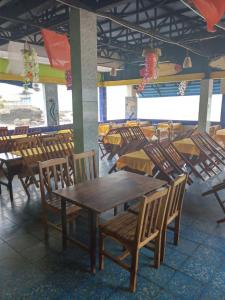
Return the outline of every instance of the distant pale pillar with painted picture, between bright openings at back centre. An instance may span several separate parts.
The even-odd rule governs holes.
[[[125,119],[137,119],[137,96],[132,85],[127,86],[125,98]]]

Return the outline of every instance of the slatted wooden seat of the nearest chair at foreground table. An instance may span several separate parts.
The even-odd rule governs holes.
[[[126,212],[100,225],[100,230],[121,242],[131,243],[135,239],[137,219],[137,215]]]

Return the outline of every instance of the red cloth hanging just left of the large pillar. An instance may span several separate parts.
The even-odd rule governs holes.
[[[70,44],[67,35],[47,29],[42,29],[41,33],[51,66],[63,71],[70,70]]]

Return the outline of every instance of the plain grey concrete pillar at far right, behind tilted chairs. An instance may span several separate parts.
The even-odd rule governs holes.
[[[210,126],[212,92],[213,92],[213,79],[201,80],[199,112],[198,112],[199,131],[208,132]]]

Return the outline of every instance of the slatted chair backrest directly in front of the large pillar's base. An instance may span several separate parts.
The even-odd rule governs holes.
[[[73,166],[75,184],[98,177],[94,150],[73,154]]]

